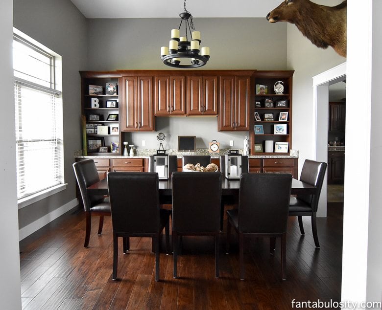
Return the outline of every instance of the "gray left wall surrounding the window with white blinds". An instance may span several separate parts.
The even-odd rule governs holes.
[[[81,145],[78,70],[86,69],[86,19],[69,0],[14,0],[13,15],[17,29],[62,56],[64,165],[68,183],[65,191],[20,209],[22,228],[75,198],[72,162],[74,151]]]

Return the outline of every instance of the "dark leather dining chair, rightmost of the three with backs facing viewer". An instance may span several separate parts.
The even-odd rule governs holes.
[[[239,234],[240,279],[244,280],[244,237],[269,237],[273,254],[276,238],[281,239],[281,266],[286,279],[287,219],[292,176],[256,173],[240,177],[239,208],[227,210],[227,244],[229,252],[231,226]]]

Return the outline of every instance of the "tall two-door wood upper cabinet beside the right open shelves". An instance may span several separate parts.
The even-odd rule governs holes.
[[[219,131],[248,131],[250,76],[220,76]]]

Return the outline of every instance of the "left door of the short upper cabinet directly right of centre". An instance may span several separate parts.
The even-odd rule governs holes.
[[[187,114],[203,114],[202,96],[203,96],[203,77],[187,77]]]

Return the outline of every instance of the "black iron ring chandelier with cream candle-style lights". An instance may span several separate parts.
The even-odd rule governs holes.
[[[179,16],[181,18],[179,28],[171,30],[169,47],[161,47],[161,59],[165,65],[175,68],[204,66],[210,59],[210,47],[203,46],[200,53],[200,32],[191,32],[191,29],[195,30],[195,28],[192,22],[193,17],[186,9],[186,0],[184,1],[184,12],[180,13]],[[183,21],[185,21],[186,36],[180,37],[180,27]]]

